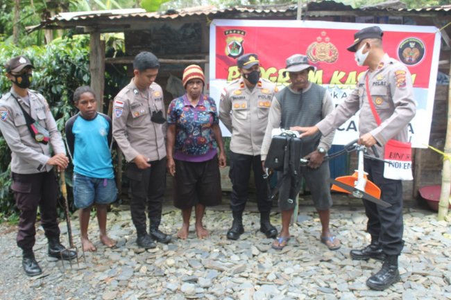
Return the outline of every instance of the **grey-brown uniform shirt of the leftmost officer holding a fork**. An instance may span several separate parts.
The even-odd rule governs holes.
[[[19,100],[20,105],[28,114],[42,125],[50,134],[49,143],[38,143],[26,125],[22,109],[12,96]],[[11,171],[17,174],[35,174],[51,170],[47,165],[51,157],[51,148],[55,154],[66,154],[61,134],[58,131],[45,98],[28,89],[29,104],[22,100],[11,89],[0,99],[0,130],[11,150]]]

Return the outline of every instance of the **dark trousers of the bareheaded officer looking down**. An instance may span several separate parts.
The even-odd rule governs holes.
[[[166,189],[166,157],[149,164],[150,168],[142,170],[135,163],[129,163],[126,170],[132,191],[130,212],[137,230],[146,229],[146,205],[148,218],[158,222],[161,220]]]

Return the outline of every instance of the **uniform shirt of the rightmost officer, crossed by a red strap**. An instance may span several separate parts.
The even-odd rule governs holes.
[[[382,124],[377,125],[366,95],[365,81]],[[316,124],[322,134],[339,127],[360,109],[359,134],[371,132],[379,145],[389,139],[408,141],[407,125],[414,118],[416,103],[411,75],[407,67],[385,54],[375,71],[366,71],[350,96],[334,112]],[[384,148],[378,147],[380,154]]]

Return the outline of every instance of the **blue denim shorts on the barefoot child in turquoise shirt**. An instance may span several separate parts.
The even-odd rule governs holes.
[[[85,209],[92,204],[110,204],[117,198],[114,179],[87,177],[74,172],[74,204]]]

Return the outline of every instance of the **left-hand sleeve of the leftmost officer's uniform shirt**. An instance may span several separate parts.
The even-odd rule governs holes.
[[[10,150],[15,152],[15,155],[18,155],[21,159],[24,159],[32,166],[35,166],[36,169],[40,166],[46,165],[50,157],[42,154],[42,152],[37,152],[22,143],[19,132],[14,124],[14,120],[11,117],[12,114],[10,109],[8,109],[8,107],[0,107],[0,110],[8,111],[8,116],[6,119],[0,121],[0,131],[1,134],[3,134],[6,143],[8,143]]]

